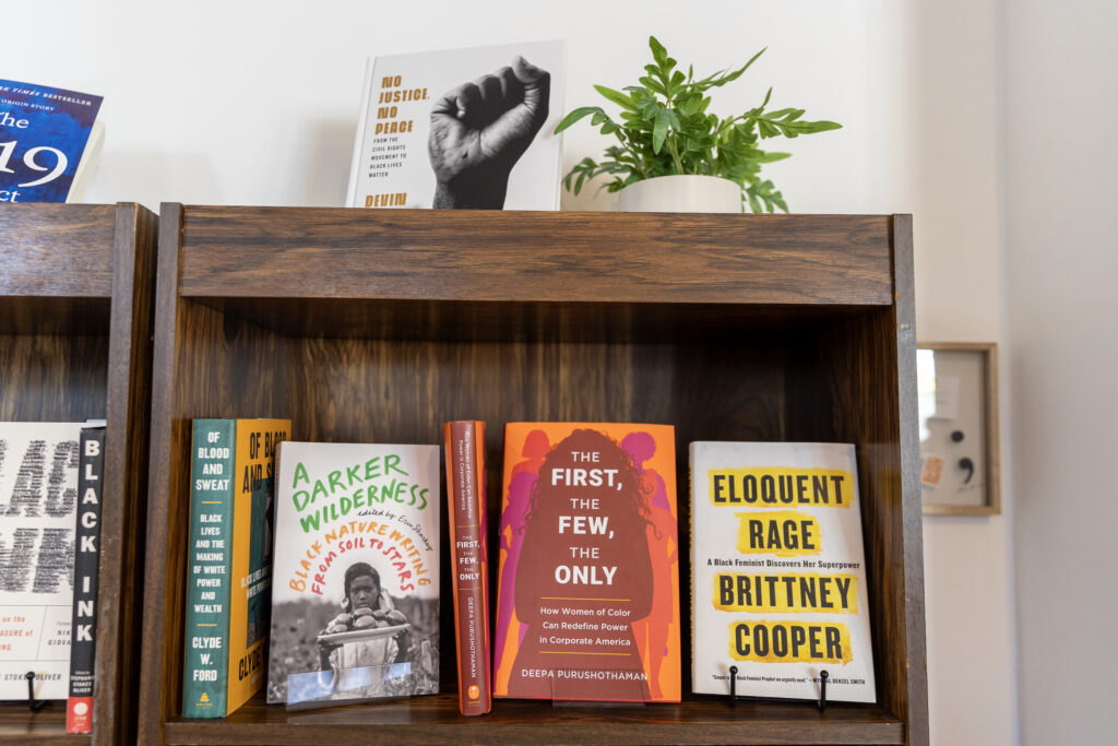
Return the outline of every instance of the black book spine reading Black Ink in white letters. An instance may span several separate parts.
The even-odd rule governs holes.
[[[82,429],[78,470],[74,616],[70,624],[70,680],[69,701],[66,703],[66,733],[92,733],[101,502],[105,474],[104,427]]]

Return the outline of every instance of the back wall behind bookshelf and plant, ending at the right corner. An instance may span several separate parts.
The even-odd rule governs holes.
[[[154,209],[341,205],[367,55],[567,39],[569,110],[598,103],[593,83],[633,81],[648,34],[699,72],[767,45],[746,77],[714,94],[716,111],[750,107],[773,85],[774,104],[845,125],[779,144],[795,157],[768,174],[789,206],[915,214],[919,338],[1004,340],[998,0],[9,4],[3,27],[21,31],[3,35],[0,75],[105,96],[88,200]],[[603,144],[579,125],[565,163]],[[563,204],[608,209],[614,199]],[[929,520],[925,540],[932,739],[1011,743],[1006,518]]]

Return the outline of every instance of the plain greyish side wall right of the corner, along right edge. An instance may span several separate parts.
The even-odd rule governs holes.
[[[1006,244],[1025,744],[1118,733],[1118,7],[1006,4]]]

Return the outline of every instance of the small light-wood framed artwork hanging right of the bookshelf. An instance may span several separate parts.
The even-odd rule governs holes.
[[[994,516],[998,491],[997,346],[917,343],[925,516]]]

